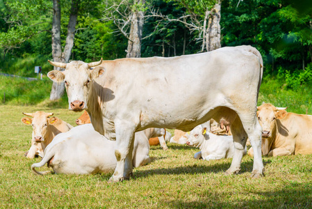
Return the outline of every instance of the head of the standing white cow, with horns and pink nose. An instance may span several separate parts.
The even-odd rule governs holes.
[[[104,68],[98,62],[85,63],[83,61],[71,61],[70,63],[57,63],[49,61],[51,65],[65,68],[65,71],[52,70],[48,77],[54,82],[64,82],[68,96],[69,110],[82,111],[87,109],[88,92],[90,82],[103,75]],[[96,67],[97,66],[97,67]],[[94,69],[90,69],[96,67]]]

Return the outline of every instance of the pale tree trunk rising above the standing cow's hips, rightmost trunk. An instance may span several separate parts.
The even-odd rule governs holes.
[[[206,50],[210,52],[212,50],[221,47],[220,43],[220,19],[221,19],[221,1],[217,1],[215,6],[210,11],[208,17],[208,26],[206,31]]]

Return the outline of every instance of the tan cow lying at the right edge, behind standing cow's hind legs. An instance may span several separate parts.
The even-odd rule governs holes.
[[[286,108],[262,104],[258,121],[262,131],[262,154],[269,156],[312,153],[312,116],[287,112]],[[254,150],[249,149],[253,156]]]

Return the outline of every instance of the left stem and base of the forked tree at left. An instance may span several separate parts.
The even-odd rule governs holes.
[[[60,45],[60,1],[53,0],[53,22],[52,22],[52,57],[53,61],[63,62],[62,49]],[[61,70],[54,66],[54,70]],[[64,94],[63,82],[53,82],[50,93],[50,100],[58,100]]]

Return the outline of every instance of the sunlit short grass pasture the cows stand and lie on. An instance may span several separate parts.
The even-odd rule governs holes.
[[[80,113],[45,106],[0,107],[0,208],[312,208],[312,155],[263,157],[265,177],[252,179],[253,160],[224,176],[231,160],[195,160],[197,148],[151,148],[152,162],[133,178],[107,183],[110,174],[36,176],[24,152],[31,126],[24,112],[44,110],[74,125]],[[47,170],[47,167],[40,169]]]

